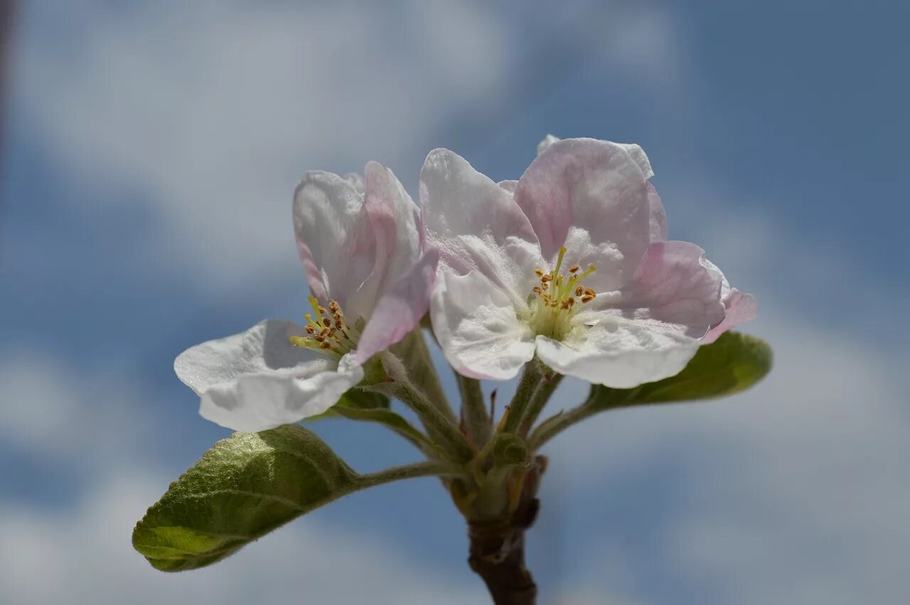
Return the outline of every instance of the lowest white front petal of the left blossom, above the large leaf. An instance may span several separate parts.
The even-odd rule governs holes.
[[[334,406],[345,391],[363,379],[363,368],[349,353],[337,370],[308,378],[252,374],[209,388],[199,415],[227,429],[254,432],[317,416]]]

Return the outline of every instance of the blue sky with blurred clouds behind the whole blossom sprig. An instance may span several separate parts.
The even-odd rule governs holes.
[[[376,159],[416,194],[434,147],[500,180],[548,133],[644,147],[671,237],[758,298],[743,330],[776,366],[743,395],[551,442],[528,545],[541,603],[910,596],[905,3],[18,8],[0,603],[489,602],[433,479],[354,494],[205,570],[152,570],[129,539],[228,434],[198,417],[173,358],[303,313],[304,170]],[[551,411],[584,390],[566,381]],[[381,429],[313,428],[359,470],[417,458]]]

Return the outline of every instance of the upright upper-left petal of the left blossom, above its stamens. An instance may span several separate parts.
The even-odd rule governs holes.
[[[323,303],[338,300],[349,317],[369,315],[370,308],[349,304],[376,264],[376,237],[363,197],[340,176],[311,171],[294,193],[293,214],[298,252],[313,295]]]

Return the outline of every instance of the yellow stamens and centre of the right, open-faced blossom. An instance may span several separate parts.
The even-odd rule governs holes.
[[[582,271],[578,265],[572,265],[562,273],[562,258],[565,253],[566,248],[561,247],[556,268],[550,273],[544,273],[541,268],[534,271],[540,278],[541,285],[533,287],[528,297],[531,328],[537,334],[555,340],[561,340],[571,331],[571,317],[577,309],[597,297],[590,287],[581,286],[581,281],[591,275],[596,267],[589,265]]]

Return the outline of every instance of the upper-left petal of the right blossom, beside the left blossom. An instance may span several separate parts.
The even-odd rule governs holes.
[[[515,304],[528,296],[541,267],[531,223],[510,193],[458,154],[435,149],[420,171],[420,203],[440,269],[464,275],[478,270],[509,292]]]

